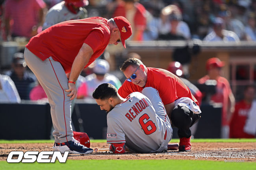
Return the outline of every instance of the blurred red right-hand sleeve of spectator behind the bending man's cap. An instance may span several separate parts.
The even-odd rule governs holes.
[[[134,20],[134,24],[136,29],[140,29],[143,30],[146,27],[147,24],[147,20],[146,20],[146,9],[143,5],[136,3],[135,7],[137,8],[137,11],[135,13],[135,20]]]

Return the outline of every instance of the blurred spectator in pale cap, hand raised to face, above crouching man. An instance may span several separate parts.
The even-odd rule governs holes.
[[[161,20],[158,25],[159,39],[187,40],[191,38],[186,22],[182,21],[182,14],[176,5],[168,5],[161,11]]]

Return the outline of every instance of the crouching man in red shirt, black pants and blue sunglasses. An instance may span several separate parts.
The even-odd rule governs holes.
[[[130,93],[145,87],[158,90],[165,110],[173,126],[178,128],[179,151],[191,150],[189,128],[200,118],[198,101],[189,88],[173,73],[159,68],[147,68],[141,60],[129,58],[121,66],[126,81],[118,93],[126,98]]]

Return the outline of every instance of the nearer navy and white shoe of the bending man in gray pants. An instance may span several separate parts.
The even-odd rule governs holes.
[[[93,149],[87,148],[76,141],[61,143],[58,150],[61,154],[64,154],[65,151],[69,151],[69,154],[90,154],[93,152]]]

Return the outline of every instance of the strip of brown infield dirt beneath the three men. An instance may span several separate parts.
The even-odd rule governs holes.
[[[0,144],[0,161],[7,159],[11,151],[50,151],[50,143],[29,144]],[[106,143],[91,143],[91,148],[108,148]],[[88,155],[70,154],[68,159],[191,159],[191,160],[215,160],[256,162],[256,143],[192,143],[191,152],[168,151],[164,153],[124,153],[113,154],[110,152],[93,152]]]

